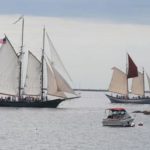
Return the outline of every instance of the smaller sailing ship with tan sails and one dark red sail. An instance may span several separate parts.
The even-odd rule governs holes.
[[[106,94],[112,103],[134,103],[134,104],[150,104],[150,97],[145,95],[144,69],[139,72],[136,64],[129,54],[127,54],[126,73],[117,67],[113,67],[113,75],[108,91]],[[131,78],[132,85],[129,91],[129,82]],[[147,75],[148,83],[150,78]]]

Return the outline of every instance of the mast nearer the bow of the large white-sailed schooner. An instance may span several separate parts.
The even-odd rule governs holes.
[[[41,72],[41,100],[44,98],[44,50],[45,50],[45,27],[43,28],[43,48],[42,48],[42,72]]]

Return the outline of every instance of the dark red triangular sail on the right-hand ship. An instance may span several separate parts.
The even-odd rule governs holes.
[[[131,57],[128,54],[128,72],[127,72],[127,77],[128,78],[133,78],[138,76],[138,69]]]

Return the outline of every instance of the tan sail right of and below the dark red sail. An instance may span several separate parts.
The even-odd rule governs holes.
[[[131,92],[135,95],[144,95],[144,74],[138,72],[138,77],[132,79]]]

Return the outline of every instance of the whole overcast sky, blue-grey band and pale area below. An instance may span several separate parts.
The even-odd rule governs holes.
[[[150,1],[148,0],[0,0],[0,36],[16,51],[25,16],[25,48],[40,57],[42,28],[75,88],[107,89],[113,66],[125,71],[126,53],[150,74]]]

